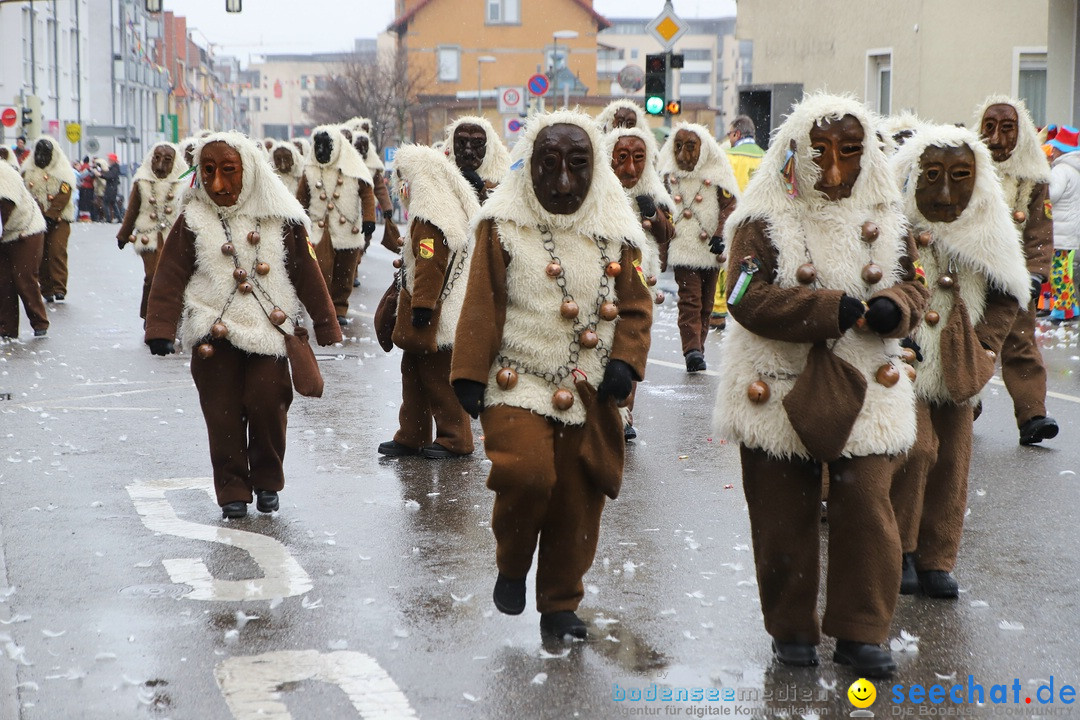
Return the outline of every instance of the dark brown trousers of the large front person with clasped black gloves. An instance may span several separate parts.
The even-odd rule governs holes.
[[[741,447],[765,629],[783,642],[881,643],[900,593],[900,535],[889,501],[896,460],[831,462],[825,615],[818,626],[821,465]]]

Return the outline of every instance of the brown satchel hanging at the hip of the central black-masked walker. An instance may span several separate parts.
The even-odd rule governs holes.
[[[622,467],[626,458],[622,416],[615,398],[602,400],[596,389],[584,380],[576,379],[573,386],[585,407],[585,425],[578,449],[581,464],[596,488],[615,500],[622,488]]]

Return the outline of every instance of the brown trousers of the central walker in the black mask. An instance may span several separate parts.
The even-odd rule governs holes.
[[[537,610],[577,610],[605,500],[579,459],[582,427],[505,405],[484,410],[481,424],[499,572],[525,578],[539,541]]]

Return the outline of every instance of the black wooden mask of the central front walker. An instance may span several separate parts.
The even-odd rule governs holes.
[[[553,215],[577,213],[593,184],[593,144],[577,125],[558,123],[537,134],[529,161],[532,190]]]

